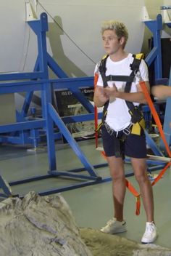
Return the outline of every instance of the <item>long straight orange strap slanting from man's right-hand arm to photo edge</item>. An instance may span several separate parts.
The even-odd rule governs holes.
[[[152,100],[151,100],[151,97],[150,97],[150,95],[149,95],[148,89],[146,88],[146,83],[145,83],[144,81],[140,81],[140,85],[141,85],[141,88],[142,88],[142,90],[143,90],[143,93],[144,93],[144,95],[145,95],[145,97],[146,97],[146,101],[147,101],[147,103],[149,104],[149,108],[150,108],[150,110],[151,110],[152,116],[154,117],[154,120],[155,120],[155,122],[156,122],[156,124],[157,124],[157,127],[158,127],[158,129],[159,129],[159,134],[160,134],[160,136],[162,137],[162,140],[163,140],[163,143],[164,143],[165,148],[166,148],[166,150],[167,150],[167,153],[168,153],[168,155],[171,157],[170,147],[169,147],[169,145],[167,144],[167,140],[166,140],[166,138],[165,138],[165,136],[164,136],[164,132],[163,132],[163,130],[162,130],[161,121],[159,120],[159,116],[158,116],[158,114],[157,114],[157,111],[156,111],[156,109],[154,108],[154,104],[153,104],[153,102],[152,102]]]

